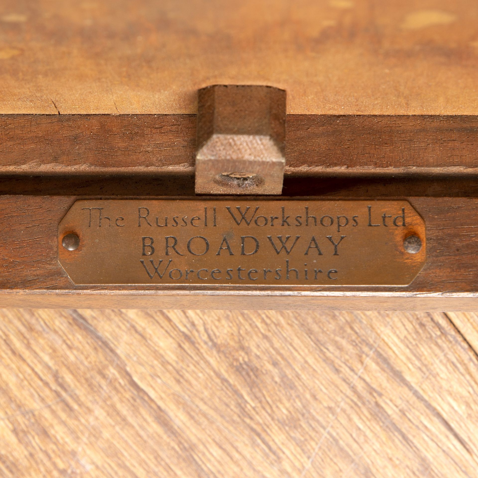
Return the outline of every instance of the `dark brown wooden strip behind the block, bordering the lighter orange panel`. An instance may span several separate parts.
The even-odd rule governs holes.
[[[195,148],[195,115],[0,115],[0,174],[194,174]],[[478,117],[288,115],[285,157],[286,175],[476,175]]]

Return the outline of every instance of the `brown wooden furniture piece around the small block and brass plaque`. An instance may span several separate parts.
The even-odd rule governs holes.
[[[401,291],[258,290],[254,307],[476,307],[477,18],[472,0],[5,1],[1,304],[189,306],[73,286],[55,225],[73,197],[191,194],[196,91],[234,83],[287,91],[284,195],[417,198],[432,234]]]

